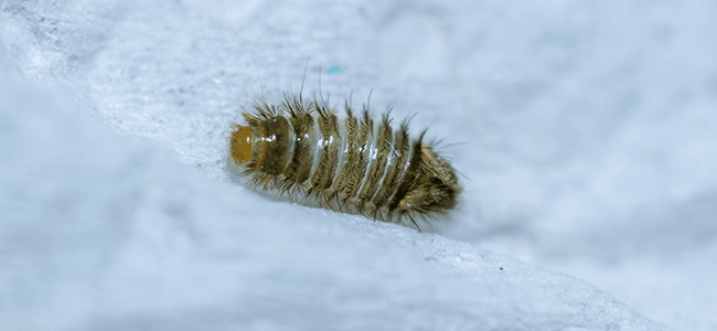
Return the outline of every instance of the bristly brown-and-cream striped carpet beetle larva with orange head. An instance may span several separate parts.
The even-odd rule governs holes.
[[[397,130],[388,113],[374,122],[345,103],[341,121],[324,100],[304,104],[285,95],[280,105],[257,100],[246,126],[233,124],[229,161],[253,189],[287,193],[386,222],[446,213],[461,186],[453,168],[430,145]]]

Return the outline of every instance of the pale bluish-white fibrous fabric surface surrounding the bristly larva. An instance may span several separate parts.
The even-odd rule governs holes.
[[[717,330],[714,18],[708,0],[0,0],[0,329]],[[443,138],[453,227],[229,180],[239,103],[298,92],[309,56],[307,95],[373,88],[376,114]]]

